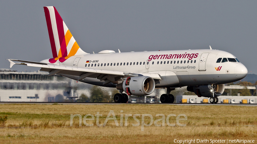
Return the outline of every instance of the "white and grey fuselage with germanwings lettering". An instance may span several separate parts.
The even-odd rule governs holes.
[[[246,67],[236,62],[219,62],[218,58],[236,58],[220,50],[170,50],[152,52],[123,52],[109,54],[86,54],[72,56],[63,63],[54,64],[73,67],[123,71],[127,73],[157,73],[162,80],[158,87],[182,87],[190,85],[225,84],[238,81],[247,75]],[[48,59],[41,61],[49,63]],[[77,76],[64,75],[77,79]],[[105,87],[115,87],[111,83],[103,85],[96,78],[85,78],[85,83]]]

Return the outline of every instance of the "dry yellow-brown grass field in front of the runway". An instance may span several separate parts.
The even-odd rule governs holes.
[[[185,127],[176,125],[157,127],[132,126],[136,121],[129,117],[128,126],[117,127],[109,120],[105,127],[79,127],[79,118],[69,127],[70,114],[103,114],[103,124],[110,110],[114,110],[118,123],[123,114],[186,114],[181,121]],[[123,110],[123,113],[121,113]],[[0,116],[8,116],[5,128],[1,128],[0,141],[4,143],[174,143],[174,139],[254,139],[257,141],[257,111],[254,106],[189,106],[189,105],[0,105]],[[137,117],[141,121],[141,117]],[[150,122],[149,118],[145,119]],[[176,123],[176,117],[170,117]],[[161,124],[158,122],[158,124]]]

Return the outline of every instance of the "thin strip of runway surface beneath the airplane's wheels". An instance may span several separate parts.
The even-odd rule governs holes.
[[[82,104],[82,105],[104,105],[104,104],[110,104],[110,105],[118,105],[118,104],[166,104],[166,105],[219,105],[219,106],[257,106],[257,104],[204,104],[204,103],[108,103],[108,102],[0,102],[0,104],[63,104],[63,105],[73,105],[73,104]]]

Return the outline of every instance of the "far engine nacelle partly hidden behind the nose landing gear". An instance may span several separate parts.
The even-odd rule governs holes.
[[[194,92],[198,97],[211,97],[212,92],[210,91],[211,89],[208,87],[208,85],[201,85],[201,86],[188,86],[186,88],[190,92]],[[214,96],[220,96],[225,89],[225,85],[216,85],[214,89]]]

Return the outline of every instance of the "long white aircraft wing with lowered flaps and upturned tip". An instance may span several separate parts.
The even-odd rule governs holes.
[[[79,76],[78,81],[84,79],[86,77],[92,77],[100,79],[101,81],[105,81],[105,84],[115,81],[120,81],[125,77],[136,77],[136,76],[149,76],[153,79],[161,80],[160,75],[152,74],[152,73],[130,73],[123,71],[111,71],[111,70],[102,70],[102,69],[88,69],[83,67],[72,67],[65,65],[55,65],[55,64],[47,64],[47,63],[39,63],[33,61],[22,61],[16,59],[7,59],[10,62],[10,67],[15,64],[19,65],[27,65],[29,67],[40,67],[40,71],[47,71],[50,75],[66,74],[66,75],[74,75]],[[18,61],[21,63],[15,63],[13,61]]]

